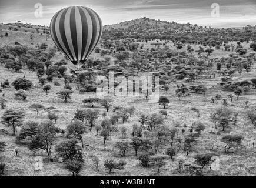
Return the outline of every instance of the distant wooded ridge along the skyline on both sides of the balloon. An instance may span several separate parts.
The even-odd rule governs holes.
[[[14,31],[24,31],[24,32],[32,32],[32,33],[46,33],[49,34],[49,26],[42,25],[33,25],[31,23],[8,23],[8,24],[0,24],[0,29],[7,29]],[[123,30],[124,29],[124,30]],[[192,33],[192,32],[208,32],[208,31],[217,31],[218,29],[232,29],[233,31],[238,30],[250,30],[251,32],[256,31],[256,26],[247,25],[240,28],[211,28],[207,26],[200,26],[197,24],[181,24],[178,22],[170,22],[170,21],[161,21],[160,19],[151,19],[147,17],[133,19],[130,21],[119,22],[117,24],[104,25],[104,32],[114,32],[115,35],[118,33],[122,33],[122,36],[125,35],[168,35],[169,33],[178,34],[178,33]]]

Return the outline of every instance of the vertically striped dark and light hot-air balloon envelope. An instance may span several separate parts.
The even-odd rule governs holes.
[[[77,65],[84,64],[102,35],[99,15],[84,6],[58,11],[51,20],[51,36],[56,46]]]

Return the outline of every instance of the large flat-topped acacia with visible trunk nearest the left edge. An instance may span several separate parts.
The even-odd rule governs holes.
[[[6,110],[2,115],[2,123],[12,127],[12,135],[15,136],[16,127],[21,126],[25,113],[20,110]]]

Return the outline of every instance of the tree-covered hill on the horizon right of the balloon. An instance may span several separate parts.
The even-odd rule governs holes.
[[[207,28],[192,24],[179,24],[150,18],[134,19],[114,25],[104,26],[103,39],[163,39],[178,41],[184,38],[187,40],[201,41],[202,38],[214,39],[215,41],[237,41],[235,38],[244,38],[245,41],[256,39],[255,26],[244,28]]]

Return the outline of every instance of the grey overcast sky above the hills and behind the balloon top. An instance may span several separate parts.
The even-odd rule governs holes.
[[[43,5],[42,18],[35,4]],[[211,16],[211,5],[220,5],[220,17]],[[256,0],[0,0],[0,22],[49,26],[52,16],[67,6],[87,6],[101,16],[104,25],[136,18],[152,18],[212,27],[256,25]]]

